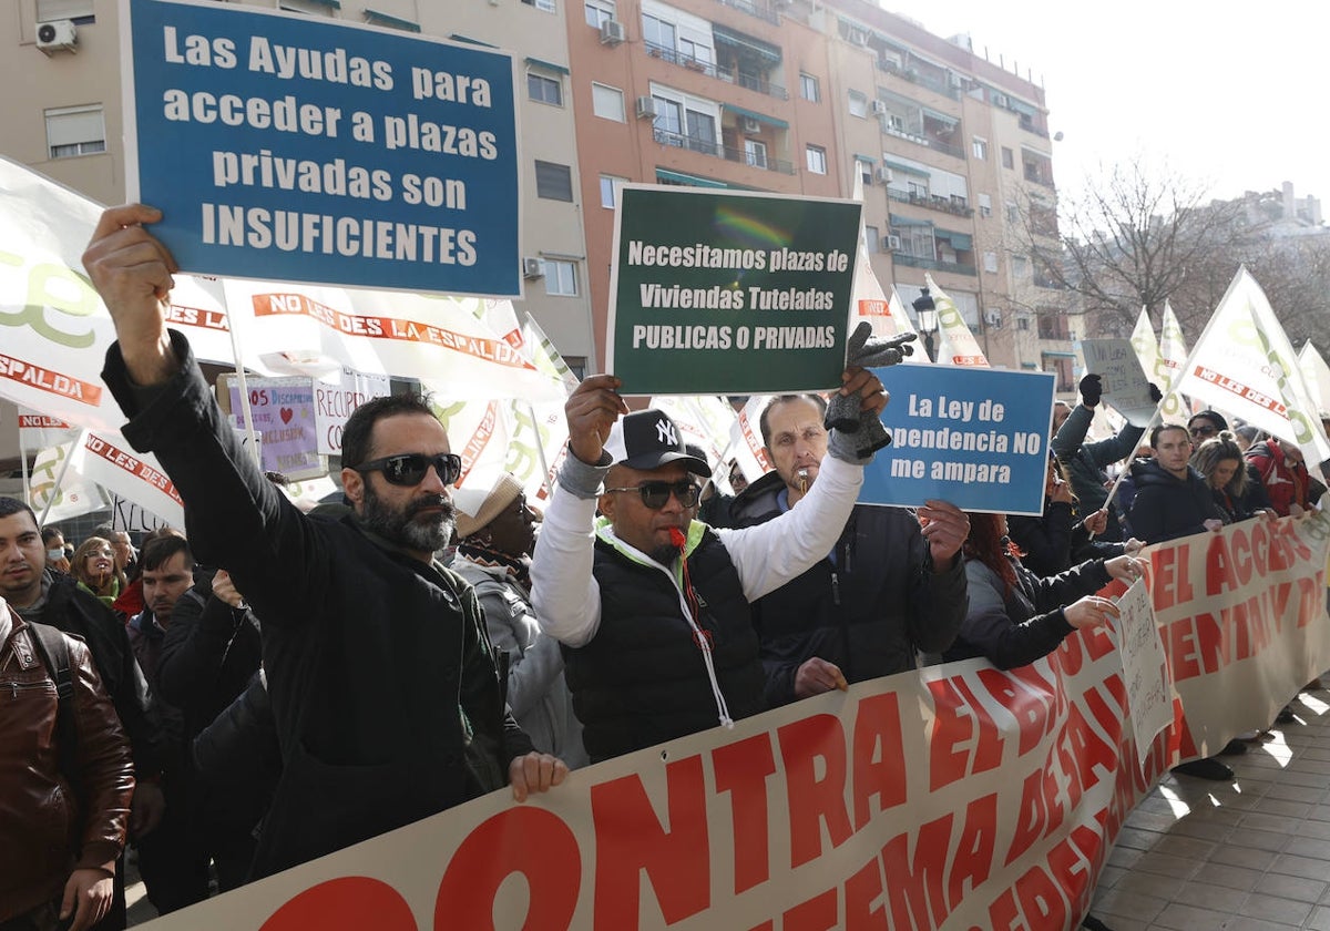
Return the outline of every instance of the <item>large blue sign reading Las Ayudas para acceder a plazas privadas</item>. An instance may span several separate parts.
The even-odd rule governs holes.
[[[185,271],[519,297],[512,56],[128,0],[130,197]]]

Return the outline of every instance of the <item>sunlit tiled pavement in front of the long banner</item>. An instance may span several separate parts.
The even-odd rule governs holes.
[[[1327,680],[1330,681],[1330,680]],[[1303,692],[1233,782],[1169,774],[1123,826],[1091,915],[1109,931],[1330,931],[1330,692]],[[130,866],[129,923],[157,912]]]

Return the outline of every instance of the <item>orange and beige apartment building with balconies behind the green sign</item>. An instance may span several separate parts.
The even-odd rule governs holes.
[[[1061,295],[1020,249],[1031,198],[1056,234],[1043,88],[861,0],[581,5],[568,47],[597,332],[618,184],[849,197],[859,177],[879,281],[908,303],[931,273],[994,364],[1069,382]]]

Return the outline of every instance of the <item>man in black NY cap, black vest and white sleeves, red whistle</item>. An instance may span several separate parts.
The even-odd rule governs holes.
[[[750,602],[835,544],[872,455],[858,434],[887,403],[871,371],[846,368],[858,430],[830,432],[817,485],[761,527],[713,529],[694,519],[710,466],[661,411],[628,414],[618,384],[589,378],[568,399],[571,455],[531,571],[592,762],[766,710]]]

